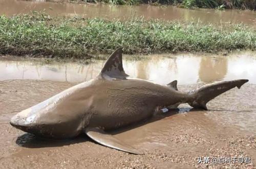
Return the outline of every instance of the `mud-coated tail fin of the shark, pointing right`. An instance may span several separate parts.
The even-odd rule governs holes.
[[[188,94],[191,99],[189,99],[188,104],[194,108],[203,108],[207,110],[206,103],[211,99],[219,96],[220,94],[237,87],[241,88],[247,79],[231,80],[231,81],[221,81],[215,82],[208,85],[204,85],[199,89],[190,91]]]

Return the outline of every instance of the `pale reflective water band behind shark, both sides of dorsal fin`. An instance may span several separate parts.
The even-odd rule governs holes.
[[[124,70],[130,77],[148,79],[160,84],[178,80],[179,85],[248,78],[256,84],[256,53],[243,51],[222,55],[165,54],[149,55],[141,61],[125,60]],[[133,56],[130,55],[129,58]],[[125,57],[124,57],[125,58]],[[0,80],[42,79],[82,82],[98,75],[104,61],[41,64],[31,60],[0,60]]]

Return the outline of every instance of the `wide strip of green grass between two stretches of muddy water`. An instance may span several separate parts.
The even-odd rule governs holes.
[[[244,25],[99,18],[50,18],[44,14],[0,17],[0,54],[91,58],[88,53],[216,52],[256,48],[256,32]]]

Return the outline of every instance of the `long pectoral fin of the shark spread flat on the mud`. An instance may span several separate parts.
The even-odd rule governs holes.
[[[92,138],[95,142],[113,149],[125,151],[132,154],[143,154],[132,146],[127,145],[126,143],[121,142],[121,140],[115,138],[109,133],[99,129],[99,128],[86,128],[86,134]]]

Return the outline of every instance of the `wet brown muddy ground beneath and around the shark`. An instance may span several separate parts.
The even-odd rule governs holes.
[[[37,138],[10,118],[74,84],[0,81],[0,168],[253,168],[256,163],[256,85],[245,84],[208,103],[208,111],[181,105],[146,122],[112,131],[142,150],[133,155],[103,147],[85,134],[69,140]],[[181,86],[188,90],[196,86]],[[198,157],[249,157],[250,163],[198,163]],[[248,158],[247,158],[248,159]]]

